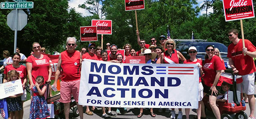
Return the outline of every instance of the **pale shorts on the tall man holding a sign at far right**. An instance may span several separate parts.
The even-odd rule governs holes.
[[[254,73],[242,75],[243,82],[240,84],[236,84],[236,90],[241,93],[246,93],[247,95],[254,94]],[[241,91],[242,88],[242,91]]]

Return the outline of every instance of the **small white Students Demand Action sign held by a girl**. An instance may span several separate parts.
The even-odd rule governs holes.
[[[23,93],[21,80],[0,84],[0,99]]]

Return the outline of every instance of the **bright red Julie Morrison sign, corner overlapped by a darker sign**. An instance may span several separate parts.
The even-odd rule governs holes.
[[[92,26],[97,26],[98,34],[112,35],[112,20],[92,20]]]

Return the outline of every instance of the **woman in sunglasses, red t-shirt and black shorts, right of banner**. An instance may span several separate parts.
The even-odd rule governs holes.
[[[204,60],[204,76],[202,76],[204,86],[204,96],[209,94],[209,103],[216,119],[220,119],[220,110],[216,105],[218,92],[220,92],[222,80],[220,80],[221,70],[225,70],[222,66],[220,57],[214,55],[214,47],[208,45],[205,49],[206,55]],[[202,109],[204,109],[202,107]]]

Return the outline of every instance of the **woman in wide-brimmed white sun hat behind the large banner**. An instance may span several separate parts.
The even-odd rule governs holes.
[[[144,53],[140,53],[139,56],[145,56],[146,64],[155,64],[156,62],[153,61],[157,54],[152,53],[150,49],[146,49]],[[142,117],[143,115],[143,108],[140,108],[140,113],[137,115],[138,118]],[[156,114],[153,112],[153,108],[150,108],[150,115],[151,117],[156,117]]]

